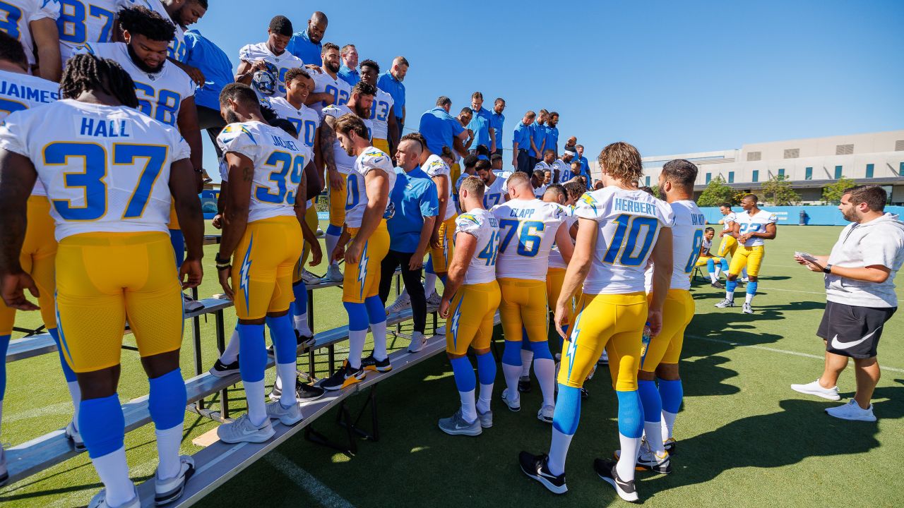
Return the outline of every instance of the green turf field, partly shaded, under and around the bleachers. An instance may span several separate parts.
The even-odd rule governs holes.
[[[325,225],[324,225],[325,228]],[[897,459],[904,450],[904,320],[886,325],[880,344],[882,379],[874,403],[877,423],[832,419],[823,409],[835,402],[806,397],[789,384],[809,382],[822,371],[822,341],[815,337],[822,315],[822,277],[797,266],[795,250],[828,253],[841,228],[780,226],[767,242],[767,256],[754,302],[756,315],[740,308],[716,309],[723,294],[708,284],[694,288],[697,316],[684,343],[684,406],[675,426],[679,440],[673,474],[639,473],[641,500],[652,506],[899,506],[904,479]],[[219,293],[207,248],[202,296]],[[322,273],[323,268],[315,268]],[[902,292],[899,290],[899,295]],[[739,298],[743,296],[739,295]],[[316,293],[315,328],[345,324],[340,289]],[[21,315],[17,325],[36,325],[38,316]],[[227,329],[234,314],[227,312]],[[215,358],[212,320],[202,325],[205,368]],[[193,374],[190,334],[183,354],[185,377]],[[130,340],[127,337],[127,343]],[[395,347],[404,347],[400,339]],[[342,351],[342,345],[337,351]],[[554,348],[555,349],[555,348]],[[344,354],[337,354],[342,357]],[[18,444],[71,418],[57,356],[46,355],[8,366],[2,442]],[[128,400],[147,393],[137,353],[123,351],[119,395]],[[321,369],[324,369],[321,363]],[[319,372],[321,375],[323,372]],[[272,380],[270,372],[269,378]],[[549,446],[550,426],[535,417],[540,393],[524,394],[523,410],[512,413],[498,400],[494,427],[480,437],[450,437],[437,419],[457,408],[457,391],[445,357],[400,372],[381,383],[380,441],[361,442],[356,456],[307,442],[298,434],[265,460],[251,466],[206,497],[202,506],[561,506],[622,503],[591,469],[597,456],[617,447],[616,398],[606,372],[589,381],[567,467],[570,492],[555,496],[526,478],[516,464],[520,450]],[[853,395],[853,374],[839,381],[843,398]],[[231,391],[241,408],[241,390]],[[363,398],[350,400],[352,409]],[[341,437],[334,414],[317,428]],[[185,419],[183,453],[197,447],[192,438],[214,424],[193,413]],[[126,439],[132,477],[154,474],[156,452],[151,426]],[[80,506],[99,489],[86,455],[40,475],[0,489],[4,506]]]

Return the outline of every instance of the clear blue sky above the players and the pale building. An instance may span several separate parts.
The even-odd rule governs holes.
[[[213,0],[195,28],[238,66],[273,15],[298,31],[323,10],[325,42],[381,67],[408,58],[407,127],[438,96],[457,111],[480,90],[507,102],[507,148],[540,108],[559,111],[560,144],[578,136],[591,159],[617,140],[668,155],[904,128],[904,2],[685,4]]]

